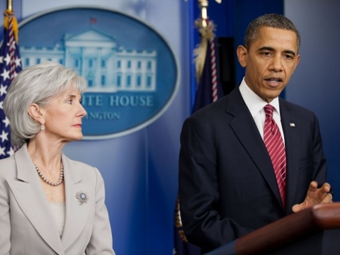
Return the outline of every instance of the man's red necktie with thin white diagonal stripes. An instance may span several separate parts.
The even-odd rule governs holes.
[[[285,208],[285,145],[278,125],[273,119],[273,106],[267,104],[264,106],[264,112],[266,113],[266,120],[264,121],[263,141],[271,157],[282,205]]]

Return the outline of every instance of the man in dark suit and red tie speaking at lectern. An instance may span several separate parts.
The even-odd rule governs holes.
[[[240,86],[183,124],[181,220],[188,241],[203,253],[292,212],[331,203],[317,117],[278,98],[299,63],[299,47],[288,18],[256,18],[237,48],[246,69]],[[268,104],[285,152],[280,177],[263,140]]]

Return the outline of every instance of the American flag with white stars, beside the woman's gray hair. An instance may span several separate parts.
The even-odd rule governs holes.
[[[9,120],[2,105],[11,81],[22,69],[16,42],[18,34],[16,18],[10,10],[6,10],[4,16],[4,39],[0,47],[0,159],[10,157],[14,152],[11,146]]]

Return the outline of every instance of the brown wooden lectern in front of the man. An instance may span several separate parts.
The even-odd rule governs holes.
[[[340,203],[293,213],[205,255],[340,254]]]

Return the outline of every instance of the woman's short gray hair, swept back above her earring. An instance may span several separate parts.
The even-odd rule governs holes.
[[[4,112],[11,124],[11,143],[21,147],[40,130],[40,123],[28,114],[32,103],[45,107],[51,98],[70,87],[83,94],[86,80],[74,69],[56,62],[42,62],[18,73],[4,99]]]

